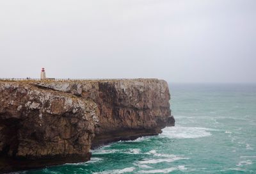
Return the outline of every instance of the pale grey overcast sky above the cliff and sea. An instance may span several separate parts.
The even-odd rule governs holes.
[[[0,77],[256,83],[256,1],[0,1],[0,59]]]

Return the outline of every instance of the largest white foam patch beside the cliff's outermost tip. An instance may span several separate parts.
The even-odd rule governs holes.
[[[215,129],[207,129],[204,127],[166,127],[163,129],[163,133],[159,136],[167,138],[201,138],[205,136],[211,136],[211,132],[217,131]]]

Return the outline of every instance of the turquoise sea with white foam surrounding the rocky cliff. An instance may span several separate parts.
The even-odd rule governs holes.
[[[22,173],[256,173],[256,85],[170,84],[176,126]]]

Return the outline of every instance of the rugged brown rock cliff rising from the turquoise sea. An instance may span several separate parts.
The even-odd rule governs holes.
[[[0,173],[90,159],[90,148],[155,135],[170,117],[157,79],[0,82]]]

